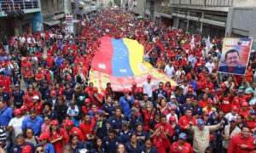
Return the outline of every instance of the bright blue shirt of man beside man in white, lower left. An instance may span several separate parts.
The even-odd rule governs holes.
[[[38,133],[41,132],[41,126],[43,125],[44,120],[43,118],[36,116],[35,120],[32,121],[31,117],[28,116],[26,117],[23,121],[22,121],[22,130],[26,129],[27,127],[32,128],[32,130],[34,131],[34,135],[37,135]]]

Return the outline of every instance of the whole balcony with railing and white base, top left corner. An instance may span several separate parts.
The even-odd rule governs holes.
[[[38,12],[40,11],[40,0],[32,0],[31,2],[26,2],[26,0],[1,0],[0,2],[0,16],[7,16],[4,11],[20,9],[22,9],[25,14]]]

